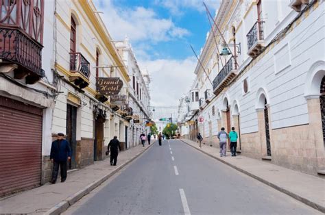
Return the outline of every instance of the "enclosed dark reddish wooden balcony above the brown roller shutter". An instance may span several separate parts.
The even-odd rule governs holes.
[[[14,72],[14,78],[25,78],[26,84],[45,76],[41,67],[43,8],[43,0],[0,1],[1,73]]]

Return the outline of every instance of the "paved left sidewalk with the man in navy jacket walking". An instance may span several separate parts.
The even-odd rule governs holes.
[[[60,214],[152,145],[148,146],[146,143],[145,147],[139,145],[122,151],[119,153],[117,166],[110,166],[110,160],[106,158],[69,173],[64,183],[58,180],[57,184],[47,183],[39,188],[0,200],[0,214]]]

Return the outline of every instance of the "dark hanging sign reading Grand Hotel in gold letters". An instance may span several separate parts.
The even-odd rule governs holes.
[[[99,93],[107,96],[117,95],[123,87],[123,81],[119,77],[99,77],[96,82]]]

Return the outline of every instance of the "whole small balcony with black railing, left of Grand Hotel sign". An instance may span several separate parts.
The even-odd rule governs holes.
[[[69,80],[80,89],[89,85],[91,66],[82,53],[70,53],[70,72]]]

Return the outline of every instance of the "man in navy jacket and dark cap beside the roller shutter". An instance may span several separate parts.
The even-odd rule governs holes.
[[[61,170],[61,182],[64,182],[67,179],[67,160],[71,160],[70,144],[67,140],[64,140],[64,134],[58,133],[57,140],[52,142],[49,158],[53,163],[51,184],[56,184],[59,166]]]

